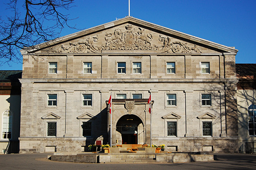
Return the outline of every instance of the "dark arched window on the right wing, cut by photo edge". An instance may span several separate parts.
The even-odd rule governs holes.
[[[256,135],[256,104],[248,107],[249,135]]]

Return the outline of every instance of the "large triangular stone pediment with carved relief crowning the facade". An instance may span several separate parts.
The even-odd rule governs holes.
[[[227,47],[134,17],[39,44],[37,53],[219,53],[235,52]],[[24,51],[25,52],[25,51]]]

